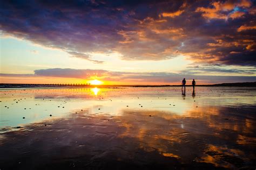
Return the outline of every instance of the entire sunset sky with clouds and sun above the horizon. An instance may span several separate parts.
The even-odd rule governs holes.
[[[0,83],[256,81],[256,1],[1,1]]]

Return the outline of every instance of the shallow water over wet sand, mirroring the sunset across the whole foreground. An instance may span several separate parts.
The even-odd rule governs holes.
[[[34,88],[0,95],[1,169],[256,167],[255,88]]]

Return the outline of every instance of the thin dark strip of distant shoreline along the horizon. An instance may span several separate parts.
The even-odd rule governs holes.
[[[220,84],[199,84],[197,87],[256,87],[256,82],[242,82],[242,83],[220,83]],[[83,84],[8,84],[0,83],[1,88],[59,88],[59,87],[101,87],[101,88],[118,88],[118,87],[181,87],[181,85],[83,85]],[[186,85],[186,87],[192,87],[192,85]]]

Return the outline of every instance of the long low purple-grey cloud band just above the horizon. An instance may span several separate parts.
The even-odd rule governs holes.
[[[217,68],[209,66],[193,67],[200,70],[208,69],[210,72],[223,72]],[[242,70],[226,70],[226,72],[242,72]],[[255,70],[254,70],[255,71]],[[118,82],[132,82],[132,84],[172,84],[180,82],[184,77],[187,80],[196,79],[198,82],[203,83],[220,83],[220,82],[252,82],[256,81],[256,76],[209,76],[209,75],[192,75],[195,72],[185,71],[183,74],[175,73],[132,73],[132,72],[110,72],[107,70],[93,70],[93,69],[69,69],[69,68],[52,68],[35,70],[35,74],[0,74],[0,77],[62,77],[62,78],[77,78],[77,79],[99,79],[103,81]]]

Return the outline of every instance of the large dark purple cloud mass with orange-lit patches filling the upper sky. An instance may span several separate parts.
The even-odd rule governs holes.
[[[72,56],[255,66],[255,1],[1,1],[0,29]]]

